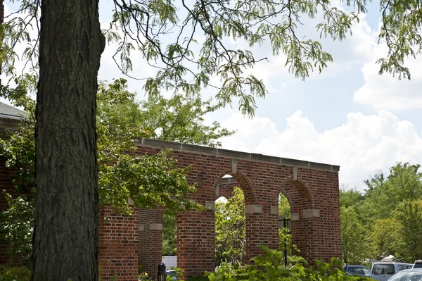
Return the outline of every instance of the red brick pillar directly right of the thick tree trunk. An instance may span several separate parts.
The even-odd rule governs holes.
[[[133,216],[116,215],[110,206],[99,207],[98,273],[101,280],[138,280],[139,210]]]

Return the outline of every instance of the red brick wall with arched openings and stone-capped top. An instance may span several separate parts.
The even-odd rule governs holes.
[[[139,144],[136,154],[154,154],[167,146],[173,149],[170,157],[177,158],[180,166],[193,166],[188,180],[198,183],[198,191],[188,197],[200,204],[212,204],[219,196],[228,196],[232,185],[219,185],[219,182],[226,174],[234,177],[236,186],[245,195],[246,260],[262,253],[259,245],[278,248],[280,192],[286,195],[295,214],[292,235],[300,255],[311,263],[315,258],[330,261],[331,257],[340,257],[338,166],[186,144],[145,142]],[[151,251],[139,251],[140,261],[148,262],[148,256]],[[185,277],[214,270],[214,211],[179,214],[177,261]],[[151,266],[144,263],[143,266],[156,268],[157,265],[154,261]]]

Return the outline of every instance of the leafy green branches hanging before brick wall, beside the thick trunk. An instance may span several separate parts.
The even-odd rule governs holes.
[[[98,187],[100,203],[113,206],[119,213],[129,213],[127,199],[141,208],[165,206],[170,210],[200,210],[200,206],[185,199],[195,192],[188,185],[186,173],[190,168],[177,168],[177,161],[167,158],[170,151],[153,156],[121,155],[112,166],[100,166]],[[184,208],[181,209],[181,205]]]

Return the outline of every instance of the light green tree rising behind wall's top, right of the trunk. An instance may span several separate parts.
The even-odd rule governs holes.
[[[213,104],[211,99],[203,101],[198,95],[174,94],[166,99],[157,94],[137,102],[135,93],[127,89],[127,80],[122,78],[109,84],[101,82],[99,92],[110,101],[116,99],[116,94],[125,97],[118,103],[100,102],[98,108],[126,126],[141,127],[137,137],[218,147],[220,138],[236,132],[222,128],[218,122],[205,125],[205,115],[222,105]]]

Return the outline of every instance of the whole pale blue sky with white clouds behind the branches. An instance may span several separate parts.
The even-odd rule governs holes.
[[[100,1],[103,27],[110,20],[110,3]],[[7,12],[8,1],[5,5]],[[257,57],[269,57],[269,62],[250,70],[264,80],[269,94],[257,100],[253,119],[238,113],[237,104],[207,116],[209,123],[217,120],[237,130],[233,137],[222,139],[223,147],[340,165],[340,184],[358,189],[364,189],[363,180],[379,170],[388,172],[397,161],[422,163],[422,57],[406,62],[411,81],[379,76],[375,61],[387,52],[385,44],[377,44],[377,3],[369,5],[369,13],[353,27],[352,37],[343,42],[321,40],[334,62],[305,81],[288,73],[284,57],[272,57],[268,44],[253,49]],[[300,34],[318,38],[316,21],[304,23]],[[229,44],[245,47],[243,42]],[[101,80],[122,77],[110,58],[113,48],[107,46],[103,53]],[[139,54],[132,59],[134,76],[154,75]],[[142,85],[143,81],[129,80],[139,99],[143,99]],[[212,94],[210,89],[203,92]]]

